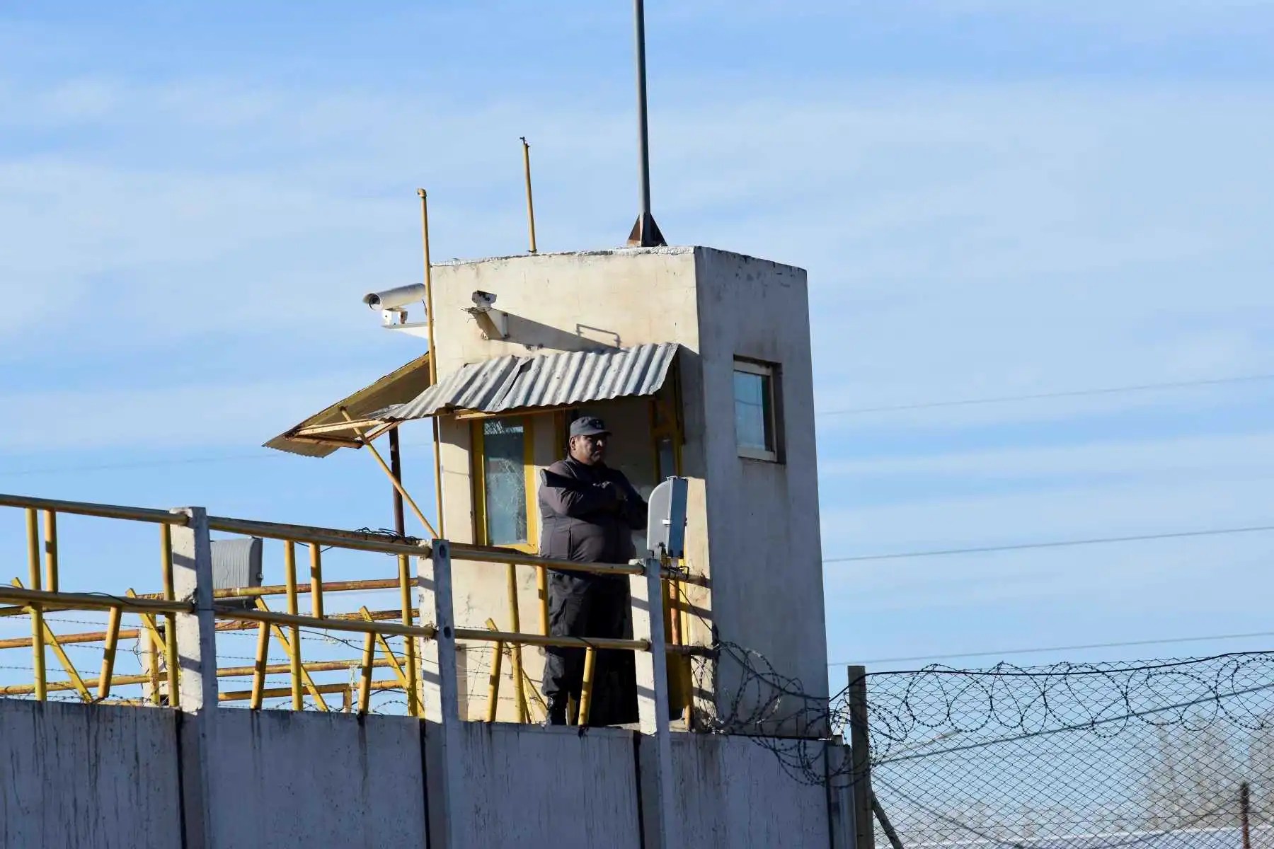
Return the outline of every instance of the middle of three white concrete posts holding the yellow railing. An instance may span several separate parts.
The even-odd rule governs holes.
[[[431,846],[456,849],[462,820],[460,802],[460,695],[456,682],[456,624],[451,597],[451,545],[434,540],[432,556],[420,558],[417,580],[420,588],[420,621],[433,620],[438,633],[420,640],[426,750],[428,754],[427,797],[429,799]]]

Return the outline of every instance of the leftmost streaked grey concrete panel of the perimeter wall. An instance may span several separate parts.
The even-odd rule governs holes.
[[[0,846],[181,845],[171,710],[0,699]]]

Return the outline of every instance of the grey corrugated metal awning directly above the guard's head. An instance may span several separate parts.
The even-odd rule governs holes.
[[[678,349],[676,342],[660,342],[471,363],[371,417],[406,421],[454,411],[506,412],[654,395],[668,379]]]

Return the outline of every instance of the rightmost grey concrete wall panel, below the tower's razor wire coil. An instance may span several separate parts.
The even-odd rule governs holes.
[[[673,734],[682,843],[696,849],[827,849],[827,788],[784,771],[747,737]]]

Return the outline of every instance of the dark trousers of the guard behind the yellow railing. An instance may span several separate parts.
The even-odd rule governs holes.
[[[610,577],[549,573],[549,634],[624,638],[629,631],[628,582]],[[580,698],[583,649],[544,649],[544,698]],[[590,726],[637,719],[637,675],[632,652],[599,650],[592,675]]]

